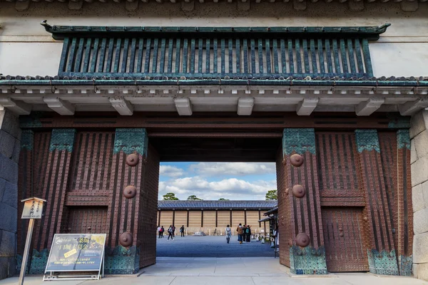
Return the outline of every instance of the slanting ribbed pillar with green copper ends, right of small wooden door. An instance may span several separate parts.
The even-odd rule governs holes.
[[[360,161],[360,185],[365,195],[363,211],[370,272],[399,275],[394,247],[391,199],[388,199],[377,130],[355,130]],[[399,170],[402,172],[402,170]]]

